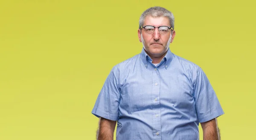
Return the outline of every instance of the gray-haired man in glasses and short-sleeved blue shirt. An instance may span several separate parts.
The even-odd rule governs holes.
[[[108,75],[92,113],[98,140],[219,140],[217,117],[224,114],[204,71],[169,49],[174,16],[151,7],[139,21],[140,54]]]

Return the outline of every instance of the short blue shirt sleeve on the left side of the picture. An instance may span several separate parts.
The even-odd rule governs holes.
[[[119,71],[117,66],[113,67],[97,97],[92,114],[96,117],[103,117],[108,120],[118,120],[119,118]]]

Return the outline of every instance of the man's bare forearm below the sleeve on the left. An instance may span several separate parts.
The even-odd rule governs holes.
[[[99,117],[99,129],[97,130],[97,140],[113,140],[116,121]]]

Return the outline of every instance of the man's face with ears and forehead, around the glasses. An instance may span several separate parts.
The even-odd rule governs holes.
[[[143,26],[147,25],[170,27],[168,17],[148,16],[145,18]],[[163,56],[168,50],[170,43],[172,43],[174,36],[175,31],[173,31],[173,34],[171,34],[171,30],[168,30],[166,35],[159,34],[158,28],[156,28],[154,33],[151,35],[146,34],[144,29],[138,30],[138,37],[140,42],[143,43],[143,47],[148,55],[152,57]]]

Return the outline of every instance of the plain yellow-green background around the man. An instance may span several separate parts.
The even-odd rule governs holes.
[[[95,140],[96,97],[142,49],[151,6],[175,15],[172,52],[207,74],[222,140],[256,140],[253,0],[0,0],[0,140]],[[202,131],[200,126],[200,139]]]

